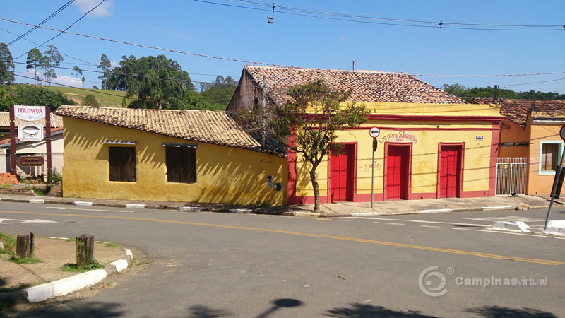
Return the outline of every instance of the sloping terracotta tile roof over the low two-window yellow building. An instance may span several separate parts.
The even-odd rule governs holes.
[[[149,131],[189,141],[213,143],[286,157],[272,144],[261,147],[226,112],[211,110],[133,110],[129,108],[61,106],[60,116]]]

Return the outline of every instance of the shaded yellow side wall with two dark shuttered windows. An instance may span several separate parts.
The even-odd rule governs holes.
[[[287,198],[287,159],[240,148],[186,141],[147,131],[64,117],[66,197],[280,206]],[[106,140],[137,141],[136,182],[109,181]],[[197,143],[196,183],[169,183],[161,143]],[[114,146],[114,145],[111,145]],[[283,191],[266,187],[267,175]]]

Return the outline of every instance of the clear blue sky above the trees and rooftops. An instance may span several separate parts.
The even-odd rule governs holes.
[[[208,0],[206,0],[208,1]],[[209,0],[235,6],[254,6],[237,1]],[[0,18],[37,24],[67,0],[0,1]],[[78,20],[100,0],[76,0],[44,26],[64,29]],[[266,1],[249,0],[255,4]],[[284,0],[277,6],[313,8],[315,11],[362,13],[379,18],[443,20],[444,23],[565,25],[565,1],[297,1]],[[296,12],[296,11],[295,11]],[[273,16],[268,24],[266,16]],[[381,22],[383,22],[381,20]],[[565,71],[565,28],[556,31],[495,31],[417,28],[356,23],[258,11],[201,1],[106,0],[99,8],[73,25],[69,31],[112,40],[208,54],[217,57],[258,61],[268,64],[319,69],[356,69],[436,75],[492,75],[549,73]],[[446,25],[447,26],[447,25]],[[0,20],[0,42],[10,42],[29,26]],[[7,31],[11,32],[8,33]],[[57,35],[35,30],[25,38],[42,43]],[[86,78],[85,87],[100,87],[95,70],[106,54],[117,65],[121,56],[165,54],[179,62],[193,81],[214,81],[218,74],[239,79],[244,64],[189,54],[162,52],[119,43],[63,34],[52,42],[64,57],[61,66],[78,65]],[[35,47],[26,40],[9,46],[16,62],[25,63],[25,52]],[[45,49],[40,48],[43,52]],[[75,57],[88,61],[72,59]],[[95,64],[95,65],[92,65]],[[71,70],[56,70],[61,83],[74,86]],[[25,75],[25,64],[16,64],[16,75]],[[28,74],[29,76],[29,74]],[[33,76],[31,76],[33,77]],[[460,83],[467,87],[494,86],[513,90],[542,90],[565,93],[565,73],[542,76],[430,77],[418,78],[441,87]],[[17,77],[18,82],[32,82]],[[534,83],[534,82],[545,83]],[[516,85],[520,84],[520,85]],[[198,85],[198,83],[196,83]],[[79,81],[79,86],[81,83]]]

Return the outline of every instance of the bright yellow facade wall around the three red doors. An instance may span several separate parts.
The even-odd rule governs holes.
[[[494,105],[438,105],[438,104],[402,104],[388,102],[363,102],[372,113],[424,115],[424,116],[474,116],[496,117],[499,110]],[[412,143],[412,194],[436,194],[438,173],[438,143],[465,143],[463,192],[489,191],[490,154],[492,146],[492,122],[402,122],[369,121],[362,129],[338,132],[338,141],[357,141],[357,194],[371,193],[371,155],[372,138],[369,129],[381,128],[379,146],[375,153],[375,194],[383,193],[384,176],[384,136],[405,131],[415,136]],[[441,129],[448,130],[441,130]],[[429,129],[429,130],[424,130]],[[437,129],[437,130],[434,130]],[[460,130],[481,129],[481,130]],[[482,130],[484,129],[484,130]],[[482,141],[476,137],[482,136]],[[381,142],[382,141],[382,142]],[[313,196],[314,190],[309,179],[311,165],[304,162],[297,154],[297,196]],[[320,195],[328,195],[328,158],[319,165],[317,179]],[[418,198],[419,199],[419,198]]]

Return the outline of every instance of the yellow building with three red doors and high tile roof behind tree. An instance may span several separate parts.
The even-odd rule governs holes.
[[[494,105],[470,105],[407,73],[245,66],[228,112],[281,105],[285,90],[316,79],[351,90],[369,121],[338,133],[343,153],[317,172],[321,203],[494,196],[499,124]],[[380,130],[372,161],[369,129]],[[374,167],[374,178],[371,178]],[[311,203],[309,163],[288,154],[288,204]]]

